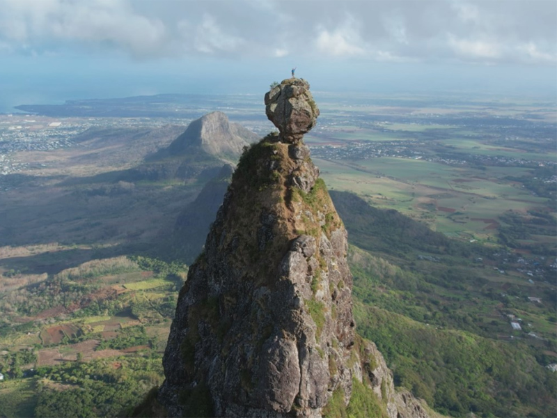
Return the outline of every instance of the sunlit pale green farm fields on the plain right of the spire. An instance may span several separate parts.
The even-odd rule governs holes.
[[[355,192],[453,236],[487,238],[507,210],[547,205],[547,199],[503,179],[525,169],[450,167],[437,162],[381,157],[356,162],[315,159],[330,189]]]

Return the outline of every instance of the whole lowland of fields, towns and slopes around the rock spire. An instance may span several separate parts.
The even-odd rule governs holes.
[[[0,416],[117,416],[161,384],[187,272],[170,238],[210,177],[128,173],[207,111],[273,130],[261,98],[176,96],[0,116]],[[306,143],[350,234],[356,323],[395,384],[446,415],[549,416],[556,104],[315,98]]]

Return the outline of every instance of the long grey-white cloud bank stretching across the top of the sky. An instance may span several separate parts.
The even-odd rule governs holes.
[[[557,2],[0,0],[0,54],[557,63]]]

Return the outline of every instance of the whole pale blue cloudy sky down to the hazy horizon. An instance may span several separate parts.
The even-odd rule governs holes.
[[[0,0],[0,111],[156,93],[557,97],[554,0]]]

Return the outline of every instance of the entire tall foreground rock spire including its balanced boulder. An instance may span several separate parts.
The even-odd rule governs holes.
[[[308,89],[265,95],[280,133],[246,149],[189,268],[157,396],[170,417],[427,417],[355,332],[347,232],[301,138]]]

